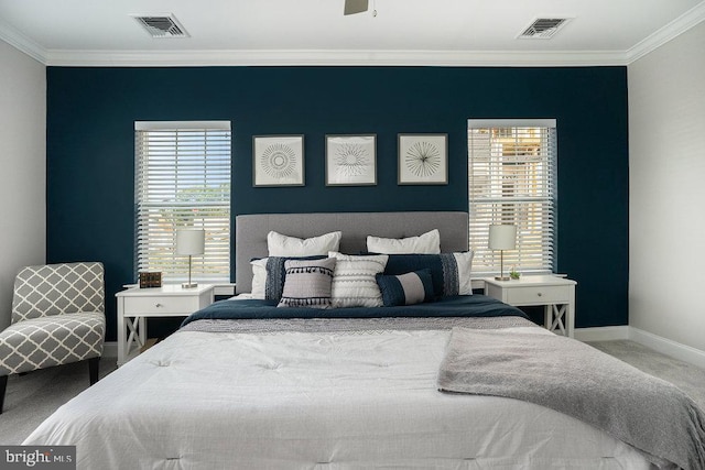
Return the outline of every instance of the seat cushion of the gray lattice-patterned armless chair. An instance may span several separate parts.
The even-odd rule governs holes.
[[[13,324],[0,332],[0,376],[99,357],[105,331],[102,311]]]

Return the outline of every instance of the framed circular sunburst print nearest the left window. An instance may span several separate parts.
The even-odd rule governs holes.
[[[303,135],[252,136],[252,186],[304,186]]]

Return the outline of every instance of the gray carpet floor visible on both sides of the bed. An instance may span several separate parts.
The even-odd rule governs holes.
[[[666,380],[705,409],[705,370],[655,352],[633,341],[596,341],[590,346]],[[115,358],[100,361],[100,376],[116,370]],[[88,364],[75,363],[11,375],[0,415],[0,445],[22,444],[61,405],[88,387]]]

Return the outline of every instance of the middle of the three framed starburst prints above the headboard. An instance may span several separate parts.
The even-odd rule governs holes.
[[[326,186],[377,185],[377,134],[326,135]]]

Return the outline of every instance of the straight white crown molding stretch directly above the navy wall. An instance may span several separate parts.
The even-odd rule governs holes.
[[[448,66],[625,65],[619,52],[522,51],[48,51],[50,66]]]

